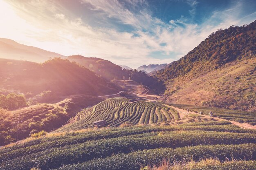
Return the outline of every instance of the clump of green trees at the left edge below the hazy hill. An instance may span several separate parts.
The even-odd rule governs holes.
[[[25,106],[27,106],[27,102],[24,95],[10,93],[5,96],[0,94],[0,108],[14,110]]]

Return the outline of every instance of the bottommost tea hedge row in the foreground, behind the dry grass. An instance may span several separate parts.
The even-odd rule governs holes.
[[[192,157],[194,161],[205,158],[217,158],[221,161],[225,161],[227,158],[229,160],[254,160],[256,159],[255,155],[255,144],[191,146],[177,149],[158,148],[66,165],[58,168],[58,170],[109,170],[109,167],[111,167],[111,170],[135,170],[139,169],[140,166],[158,164],[164,159],[171,163],[190,161]]]

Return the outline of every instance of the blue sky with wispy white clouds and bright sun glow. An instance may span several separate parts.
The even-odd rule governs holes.
[[[256,20],[255,0],[0,0],[0,38],[137,68]]]

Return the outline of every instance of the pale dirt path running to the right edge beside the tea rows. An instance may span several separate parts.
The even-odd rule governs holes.
[[[169,106],[169,105],[168,105]],[[170,106],[170,107],[172,107],[172,108],[174,108],[175,110],[177,110],[179,113],[181,113],[180,114],[180,117],[182,116],[182,117],[184,117],[184,115],[187,115],[187,110],[184,110],[184,109],[181,109],[181,108],[176,108],[176,107],[173,107],[173,106]],[[198,113],[195,113],[195,112],[191,112],[191,111],[189,111],[189,114],[197,114],[198,115]],[[207,118],[210,118],[210,116],[208,116],[208,115],[203,115],[204,117],[207,117]],[[182,118],[181,117],[181,118]],[[224,120],[224,121],[229,121],[229,120],[226,120],[226,119],[221,119],[221,118],[218,118],[218,117],[214,117],[214,119],[216,119],[216,120]],[[250,125],[250,124],[248,124],[248,123],[243,123],[243,124],[241,124],[241,123],[239,123],[239,122],[237,122],[237,121],[230,121],[232,124],[234,124],[234,125],[236,125],[236,126],[239,126],[240,128],[243,128],[243,129],[256,129],[256,125],[255,126],[252,126],[252,125]]]

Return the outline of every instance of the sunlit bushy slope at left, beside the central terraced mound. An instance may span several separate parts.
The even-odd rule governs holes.
[[[12,111],[0,108],[0,146],[27,138],[32,130],[59,128],[81,109],[102,100],[89,95],[76,95],[54,104],[38,103]]]

